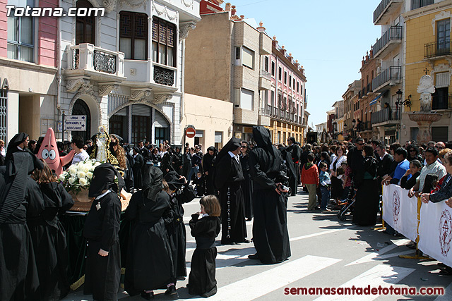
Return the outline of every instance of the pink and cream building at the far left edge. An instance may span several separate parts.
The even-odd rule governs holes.
[[[57,17],[7,17],[6,5],[54,8],[58,0],[0,0],[0,139],[18,132],[37,139],[55,128],[58,83]]]

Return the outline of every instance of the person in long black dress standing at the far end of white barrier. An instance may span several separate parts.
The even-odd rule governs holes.
[[[379,181],[377,178],[378,162],[374,158],[374,149],[365,145],[362,151],[361,166],[355,166],[357,173],[354,178],[356,192],[353,223],[359,226],[374,226],[379,211]]]

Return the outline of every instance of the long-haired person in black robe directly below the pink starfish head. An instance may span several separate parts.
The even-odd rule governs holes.
[[[44,160],[41,161],[44,168],[36,169],[32,178],[40,185],[45,209],[40,216],[27,219],[40,278],[40,286],[33,299],[58,301],[69,293],[66,231],[58,214],[71,209],[74,202],[49,166]]]

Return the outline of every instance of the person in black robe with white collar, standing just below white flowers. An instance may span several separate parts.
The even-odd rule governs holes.
[[[83,293],[93,295],[94,300],[117,300],[121,278],[121,179],[112,164],[100,164],[93,172],[88,192],[88,197],[95,199],[83,226],[83,236],[88,239]]]

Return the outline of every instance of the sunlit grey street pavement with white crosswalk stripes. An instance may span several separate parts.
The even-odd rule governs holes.
[[[191,213],[198,211],[198,199],[185,206],[189,221]],[[321,214],[307,211],[307,194],[289,198],[288,226],[292,257],[282,264],[263,265],[247,258],[254,254],[254,246],[218,245],[217,281],[218,293],[209,300],[451,300],[452,276],[439,274],[436,261],[400,259],[399,254],[412,254],[405,246],[409,240],[393,238],[370,227],[353,226],[351,217],[338,221],[335,211]],[[247,222],[251,238],[252,222]],[[188,226],[187,226],[188,229]],[[187,233],[189,231],[187,230]],[[196,244],[187,237],[186,260],[191,260]],[[218,242],[220,238],[218,238]],[[178,281],[179,299],[192,298],[186,289],[187,281]],[[446,296],[302,296],[285,295],[285,288],[311,287],[378,288],[394,285],[395,288],[434,287],[446,288]],[[289,290],[287,290],[289,291]],[[164,295],[165,290],[155,291],[155,300],[173,300]],[[140,296],[119,294],[120,300],[143,300]],[[200,298],[201,299],[201,298]],[[83,295],[83,287],[64,300],[93,300]]]

